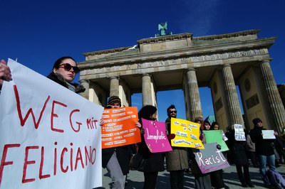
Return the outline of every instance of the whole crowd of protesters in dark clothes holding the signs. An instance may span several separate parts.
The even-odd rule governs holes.
[[[76,65],[76,61],[71,57],[63,57],[56,60],[53,65],[53,69],[48,78],[57,82],[63,87],[72,90],[73,92],[83,92],[85,89],[82,85],[71,83],[79,72],[79,68]],[[3,81],[12,80],[11,70],[6,65],[4,60],[0,61],[0,92]],[[110,97],[108,100],[107,108],[119,108],[121,102],[119,97]],[[165,134],[169,140],[175,138],[175,134],[170,131],[171,118],[177,117],[177,109],[175,105],[170,105],[167,108],[167,119],[165,120]],[[139,122],[135,126],[140,128],[141,136],[144,134],[144,126],[142,125],[142,119],[157,121],[157,108],[151,105],[147,105],[140,109],[138,112]],[[214,121],[204,121],[202,117],[197,117],[192,120],[200,125],[199,139],[202,143],[206,143],[203,132],[207,130],[219,129],[219,124]],[[281,163],[285,163],[285,131],[278,135],[274,132],[276,139],[263,139],[262,131],[265,130],[262,121],[259,118],[252,120],[253,126],[250,131],[246,131],[244,141],[236,141],[234,137],[234,127],[228,126],[225,135],[227,136],[227,146],[229,147],[229,153],[224,153],[229,163],[234,163],[237,168],[237,178],[241,182],[243,188],[254,188],[251,181],[249,159],[251,159],[252,166],[259,168],[259,172],[262,180],[264,181],[264,187],[274,188],[271,185],[269,177],[266,173],[267,166],[270,170],[276,171]],[[100,125],[103,125],[101,120]],[[218,145],[217,148],[220,148]],[[125,188],[126,175],[129,173],[129,150],[130,146],[120,146],[117,148],[103,149],[103,168],[107,168],[112,178],[112,188]],[[137,153],[136,148],[135,152]],[[192,175],[195,177],[195,188],[208,189],[208,188],[229,188],[225,185],[222,169],[218,171],[212,171],[211,173],[202,173],[195,161],[195,155],[192,153],[191,148],[174,147],[172,151],[165,153],[151,153],[147,148],[142,136],[142,142],[138,144],[138,153],[142,153],[145,160],[145,167],[143,169],[143,175],[145,178],[145,189],[154,189],[157,181],[157,174],[159,171],[165,171],[164,161],[166,160],[166,170],[170,172],[170,185],[172,189],[184,188],[184,174],[186,171],[191,170]],[[283,162],[282,162],[283,159]],[[284,186],[285,187],[285,186]]]

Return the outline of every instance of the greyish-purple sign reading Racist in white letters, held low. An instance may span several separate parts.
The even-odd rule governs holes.
[[[204,149],[193,148],[195,160],[202,173],[217,171],[229,167],[222,151],[217,149],[217,143],[204,144]]]

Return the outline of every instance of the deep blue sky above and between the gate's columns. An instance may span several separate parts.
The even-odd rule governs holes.
[[[83,53],[135,45],[154,37],[158,23],[168,31],[194,33],[194,37],[260,29],[259,38],[276,36],[269,49],[277,84],[285,83],[284,0],[0,0],[0,58],[48,75],[57,58],[70,55],[78,62]],[[208,88],[200,89],[204,118],[214,114]],[[177,117],[185,119],[182,90],[158,92],[159,120],[175,104]],[[141,95],[133,95],[141,107]]]

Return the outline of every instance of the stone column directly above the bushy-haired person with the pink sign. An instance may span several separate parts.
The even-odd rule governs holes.
[[[152,105],[151,76],[146,73],[142,75],[142,107]]]

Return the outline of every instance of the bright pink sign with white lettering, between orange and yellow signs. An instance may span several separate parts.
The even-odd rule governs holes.
[[[172,151],[165,133],[165,122],[142,119],[145,144],[151,153]]]

